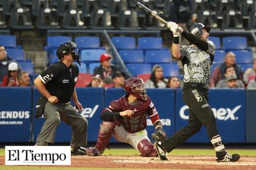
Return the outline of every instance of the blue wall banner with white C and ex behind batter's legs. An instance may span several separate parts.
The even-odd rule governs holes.
[[[244,89],[209,89],[209,105],[216,117],[217,128],[222,141],[245,142],[245,91]],[[176,91],[175,131],[188,124],[188,106],[182,99],[181,89]],[[206,128],[190,139],[188,143],[209,143]]]

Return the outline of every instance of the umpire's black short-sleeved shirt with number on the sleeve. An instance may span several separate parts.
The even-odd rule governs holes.
[[[47,91],[52,96],[57,96],[58,102],[66,103],[74,92],[78,74],[79,70],[75,64],[68,68],[62,61],[57,61],[39,76]]]

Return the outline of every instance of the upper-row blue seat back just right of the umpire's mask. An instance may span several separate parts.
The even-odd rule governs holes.
[[[75,37],[75,43],[80,50],[85,48],[100,48],[99,37],[96,36]]]

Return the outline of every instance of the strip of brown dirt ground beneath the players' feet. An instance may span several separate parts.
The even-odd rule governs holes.
[[[4,156],[0,157],[4,165]],[[61,166],[63,168],[63,166]],[[70,166],[67,166],[70,167]],[[139,155],[71,156],[72,168],[134,169],[256,169],[256,156],[241,156],[236,163],[217,163],[210,155],[168,155],[168,161]]]

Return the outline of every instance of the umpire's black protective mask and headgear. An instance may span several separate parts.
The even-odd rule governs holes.
[[[80,54],[75,42],[65,42],[57,49],[57,56],[59,59],[64,55],[70,54],[72,58],[81,66]]]

